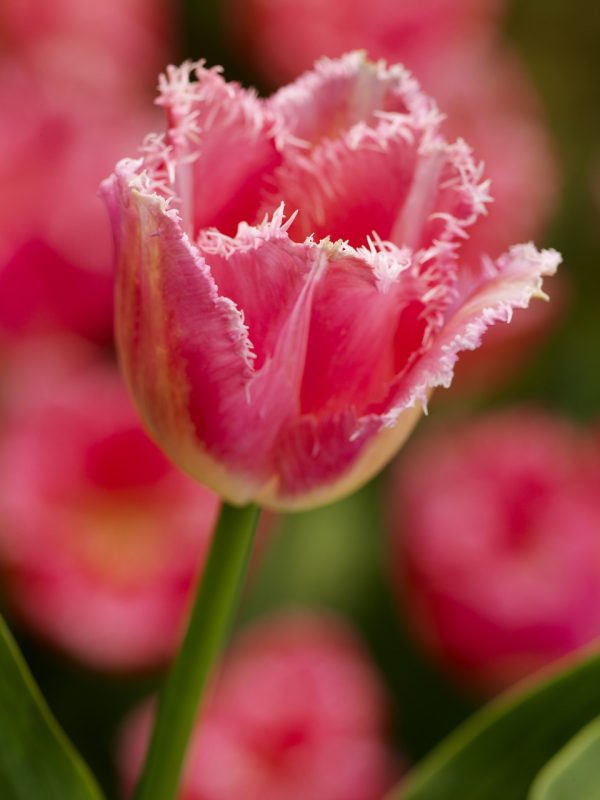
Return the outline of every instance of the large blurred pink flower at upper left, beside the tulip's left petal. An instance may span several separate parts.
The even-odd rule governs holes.
[[[7,60],[0,102],[0,342],[56,329],[108,342],[112,246],[97,186],[154,116]]]

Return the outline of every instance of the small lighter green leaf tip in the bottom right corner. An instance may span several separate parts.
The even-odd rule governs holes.
[[[600,800],[600,717],[540,772],[530,800]]]

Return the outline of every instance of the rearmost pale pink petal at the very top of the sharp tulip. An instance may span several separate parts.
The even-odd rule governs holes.
[[[434,101],[410,73],[399,65],[371,62],[362,51],[320,59],[265,105],[282,121],[281,141],[291,148],[335,139],[357,124],[375,127],[386,112],[419,126],[440,120]]]

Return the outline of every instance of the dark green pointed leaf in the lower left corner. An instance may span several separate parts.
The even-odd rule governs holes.
[[[0,798],[101,800],[0,618]]]

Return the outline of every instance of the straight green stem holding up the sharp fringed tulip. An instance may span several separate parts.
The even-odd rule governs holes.
[[[160,695],[135,800],[174,800],[211,670],[229,633],[259,509],[223,503],[188,628]]]

